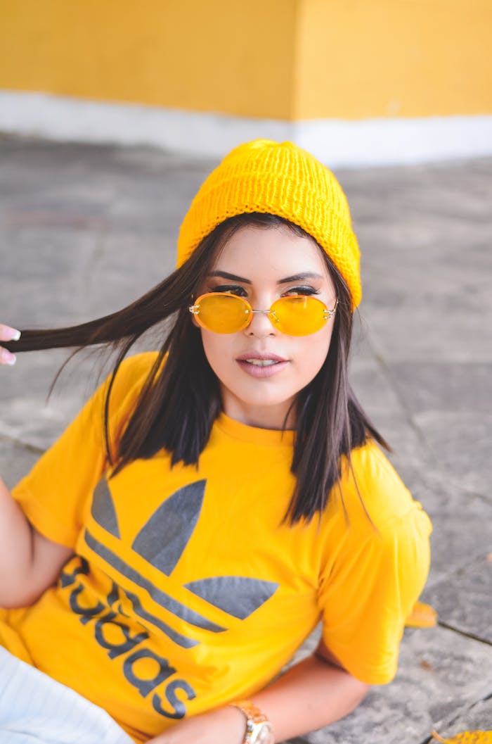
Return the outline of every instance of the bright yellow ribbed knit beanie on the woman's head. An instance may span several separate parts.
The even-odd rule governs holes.
[[[314,237],[346,280],[355,310],[360,252],[345,194],[328,168],[292,142],[239,145],[192,200],[178,237],[178,266],[224,219],[245,212],[285,217]]]

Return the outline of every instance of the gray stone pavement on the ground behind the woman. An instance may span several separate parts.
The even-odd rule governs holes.
[[[0,137],[0,320],[71,324],[143,294],[173,268],[178,226],[213,165]],[[492,728],[492,159],[337,176],[363,257],[352,383],[433,519],[424,600],[440,623],[407,629],[395,682],[305,738],[424,744],[431,728]],[[10,486],[97,384],[97,359],[81,355],[46,405],[66,356],[19,355],[0,371]]]

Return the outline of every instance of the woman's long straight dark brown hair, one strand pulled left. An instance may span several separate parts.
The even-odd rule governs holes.
[[[19,341],[2,344],[16,352],[56,347],[80,350],[94,344],[117,348],[104,405],[111,475],[139,458],[152,458],[163,448],[170,453],[172,465],[180,461],[187,465],[198,464],[213,422],[221,412],[221,395],[219,381],[204,353],[201,332],[192,324],[188,307],[212,269],[218,252],[233,234],[247,225],[263,229],[286,225],[294,234],[314,240],[298,225],[282,217],[240,214],[222,222],[202,240],[183,266],[123,310],[72,327],[22,330]],[[291,472],[296,485],[284,517],[284,522],[291,525],[303,520],[309,522],[323,512],[331,490],[340,485],[343,457],[351,466],[352,449],[362,446],[368,437],[389,449],[349,385],[351,298],[337,267],[322,248],[320,251],[334,282],[338,304],[325,362],[294,402],[296,434]],[[109,401],[118,368],[135,341],[166,318],[172,321],[169,333],[158,350],[123,433],[117,443],[111,443]]]

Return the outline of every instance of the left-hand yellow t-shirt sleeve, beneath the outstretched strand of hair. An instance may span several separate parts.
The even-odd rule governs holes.
[[[152,356],[130,357],[118,370],[109,408],[111,443],[132,411]],[[89,497],[107,467],[103,417],[108,386],[109,378],[12,491],[33,527],[68,548],[77,542]]]

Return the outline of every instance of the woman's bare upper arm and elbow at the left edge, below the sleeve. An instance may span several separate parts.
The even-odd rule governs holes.
[[[0,478],[0,607],[25,607],[51,586],[72,554],[27,521]]]

